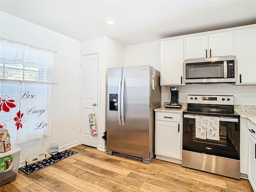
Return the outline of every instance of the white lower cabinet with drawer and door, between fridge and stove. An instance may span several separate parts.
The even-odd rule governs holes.
[[[181,163],[181,114],[156,112],[156,158]]]

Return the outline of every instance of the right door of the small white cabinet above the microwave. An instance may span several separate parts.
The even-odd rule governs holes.
[[[208,35],[208,53],[210,57],[233,55],[233,32]]]

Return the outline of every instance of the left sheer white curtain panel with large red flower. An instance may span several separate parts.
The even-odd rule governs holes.
[[[14,118],[19,111],[19,82],[0,81],[0,128],[8,129],[11,144],[16,142],[17,126]]]

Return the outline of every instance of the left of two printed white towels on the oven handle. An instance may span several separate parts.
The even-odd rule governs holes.
[[[196,115],[196,138],[206,139],[207,118]]]

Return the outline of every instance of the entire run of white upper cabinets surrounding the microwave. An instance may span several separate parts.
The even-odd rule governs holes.
[[[161,85],[184,85],[185,59],[236,56],[236,84],[256,84],[256,24],[160,39]]]

